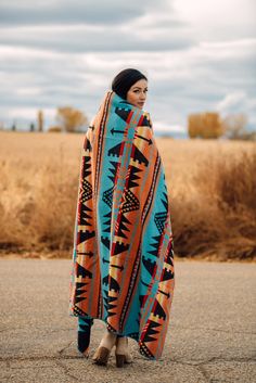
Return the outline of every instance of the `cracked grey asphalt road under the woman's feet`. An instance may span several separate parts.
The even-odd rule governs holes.
[[[105,324],[95,320],[90,358],[76,349],[67,314],[69,260],[0,260],[0,382],[256,382],[256,265],[176,261],[163,356],[132,365],[92,363]]]

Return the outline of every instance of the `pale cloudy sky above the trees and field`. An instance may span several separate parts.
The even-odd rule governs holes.
[[[149,78],[154,129],[188,114],[245,113],[256,129],[255,0],[0,0],[0,123],[25,127],[59,106],[89,119],[113,77]]]

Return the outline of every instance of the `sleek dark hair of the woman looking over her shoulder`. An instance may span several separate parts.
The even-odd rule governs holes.
[[[126,100],[126,95],[130,87],[141,79],[148,80],[148,78],[140,71],[132,68],[124,69],[113,79],[112,90]]]

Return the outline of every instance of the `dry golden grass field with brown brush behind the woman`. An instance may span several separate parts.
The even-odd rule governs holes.
[[[0,131],[1,254],[72,256],[84,135]],[[255,259],[256,145],[156,138],[179,257]]]

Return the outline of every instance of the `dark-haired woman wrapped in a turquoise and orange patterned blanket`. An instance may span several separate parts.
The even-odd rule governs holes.
[[[71,281],[78,349],[88,357],[93,319],[106,333],[93,356],[131,362],[128,337],[149,359],[162,355],[175,288],[165,173],[149,113],[148,79],[121,71],[86,133]]]

